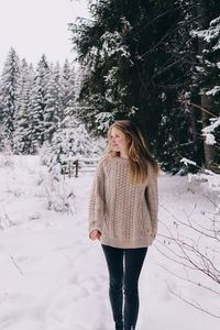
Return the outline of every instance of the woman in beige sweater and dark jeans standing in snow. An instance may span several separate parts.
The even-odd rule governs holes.
[[[133,330],[139,314],[139,276],[157,232],[160,167],[130,120],[116,121],[108,131],[108,142],[91,188],[89,238],[100,240],[107,260],[116,329]]]

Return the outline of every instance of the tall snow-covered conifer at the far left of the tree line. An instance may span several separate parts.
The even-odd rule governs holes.
[[[11,47],[4,63],[0,81],[0,120],[2,135],[13,148],[14,112],[18,100],[18,89],[20,79],[20,59],[15,51]]]

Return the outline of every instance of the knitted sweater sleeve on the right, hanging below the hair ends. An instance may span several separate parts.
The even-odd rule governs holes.
[[[154,173],[153,168],[150,170],[147,194],[146,194],[150,215],[151,215],[151,224],[152,224],[152,234],[155,238],[157,233],[157,215],[158,215],[158,190],[157,190],[157,176]]]

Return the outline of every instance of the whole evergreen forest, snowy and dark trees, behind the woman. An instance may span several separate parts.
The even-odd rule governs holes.
[[[68,25],[73,63],[54,65],[42,55],[34,68],[9,51],[0,150],[36,154],[46,146],[56,162],[61,154],[90,156],[113,121],[131,119],[165,172],[219,173],[220,1],[89,0],[88,7],[89,20]]]

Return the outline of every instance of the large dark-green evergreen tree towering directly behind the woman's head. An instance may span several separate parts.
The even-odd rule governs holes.
[[[191,79],[191,52],[184,47],[195,16],[182,21],[187,4],[91,1],[92,21],[70,25],[78,61],[86,67],[81,118],[102,132],[113,120],[134,120],[161,167],[173,173],[183,166],[178,153],[187,157],[194,151],[189,110],[177,102]]]

